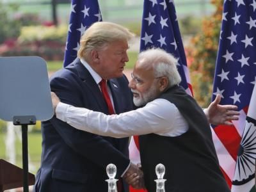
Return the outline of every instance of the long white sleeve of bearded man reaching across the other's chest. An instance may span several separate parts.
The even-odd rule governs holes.
[[[163,134],[166,131],[172,131],[176,127],[177,111],[177,108],[165,99],[153,100],[143,108],[119,115],[105,115],[60,102],[56,108],[56,116],[76,129],[102,136],[124,138],[132,135]]]

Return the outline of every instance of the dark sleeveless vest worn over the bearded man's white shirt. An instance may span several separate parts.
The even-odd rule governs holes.
[[[155,168],[159,163],[166,168],[166,192],[230,191],[220,170],[204,111],[180,86],[168,89],[159,98],[175,104],[188,122],[189,129],[176,137],[157,134],[139,137],[141,164],[148,192],[156,192]]]

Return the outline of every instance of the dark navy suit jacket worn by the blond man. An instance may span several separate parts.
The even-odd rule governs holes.
[[[99,86],[80,61],[56,72],[50,84],[62,102],[108,114]],[[116,113],[131,110],[132,95],[127,78],[110,79],[108,84]],[[42,139],[42,164],[36,174],[36,192],[108,191],[106,166],[116,165],[118,179],[129,165],[128,138],[79,131],[55,116],[42,122]],[[124,186],[128,191],[128,186]]]

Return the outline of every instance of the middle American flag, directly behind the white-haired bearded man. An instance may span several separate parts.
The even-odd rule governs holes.
[[[149,47],[160,47],[178,59],[177,68],[182,78],[180,85],[192,95],[174,0],[144,0],[140,51]],[[129,148],[130,159],[134,163],[140,162],[138,136],[132,138]],[[131,191],[136,190],[131,189]]]

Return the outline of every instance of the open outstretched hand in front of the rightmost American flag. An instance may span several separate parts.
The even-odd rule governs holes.
[[[233,105],[220,105],[221,96],[217,95],[215,100],[211,102],[204,113],[210,124],[213,125],[232,125],[232,120],[238,120],[239,112],[237,106]]]

